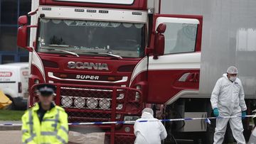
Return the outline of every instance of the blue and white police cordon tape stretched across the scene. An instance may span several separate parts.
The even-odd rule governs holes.
[[[247,116],[218,116],[218,117],[209,117],[209,118],[174,118],[174,119],[161,119],[159,121],[168,122],[168,121],[193,121],[193,120],[205,120],[206,123],[210,124],[210,119],[219,119],[219,118],[252,118],[256,115],[247,115]],[[156,120],[149,121],[137,121],[139,123],[154,122]],[[68,123],[70,126],[78,125],[102,125],[102,124],[134,124],[136,121],[106,121],[106,122],[88,122],[88,123]],[[22,123],[2,123],[0,126],[22,126]]]

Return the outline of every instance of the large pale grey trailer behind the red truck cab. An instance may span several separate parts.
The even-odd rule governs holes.
[[[238,67],[238,77],[245,90],[247,113],[255,109],[256,94],[256,1],[254,0],[161,0],[160,13],[203,16],[200,88],[198,94],[186,94],[171,104],[169,111],[181,117],[210,116],[210,95],[218,78],[230,65]],[[178,117],[178,116],[177,116]],[[250,135],[249,119],[245,123],[245,138]],[[174,124],[174,123],[172,123]],[[214,123],[176,123],[176,131],[206,134],[198,138],[212,143]],[[172,133],[175,133],[172,130]],[[230,132],[229,132],[230,133]],[[193,133],[195,135],[195,133]],[[232,134],[231,134],[232,135]],[[177,136],[178,137],[178,136]],[[195,136],[193,138],[196,138]],[[232,138],[228,138],[231,139]]]

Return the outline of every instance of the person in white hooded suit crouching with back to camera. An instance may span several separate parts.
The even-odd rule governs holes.
[[[136,135],[134,144],[161,144],[161,140],[166,138],[167,132],[163,123],[153,115],[152,109],[145,108],[142,111],[142,118],[137,119],[134,123],[134,134]]]

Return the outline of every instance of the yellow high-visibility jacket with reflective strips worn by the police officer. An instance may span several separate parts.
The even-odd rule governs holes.
[[[39,121],[39,105],[28,109],[22,116],[22,143],[60,144],[68,143],[68,114],[60,106],[46,111]]]

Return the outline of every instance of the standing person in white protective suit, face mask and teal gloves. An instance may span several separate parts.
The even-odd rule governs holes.
[[[210,97],[213,114],[218,116],[246,116],[245,93],[242,83],[237,77],[238,69],[228,67],[227,74],[218,79]],[[245,144],[245,137],[242,134],[242,118],[217,118],[214,133],[214,144],[222,144],[228,121],[235,140],[239,144]]]

